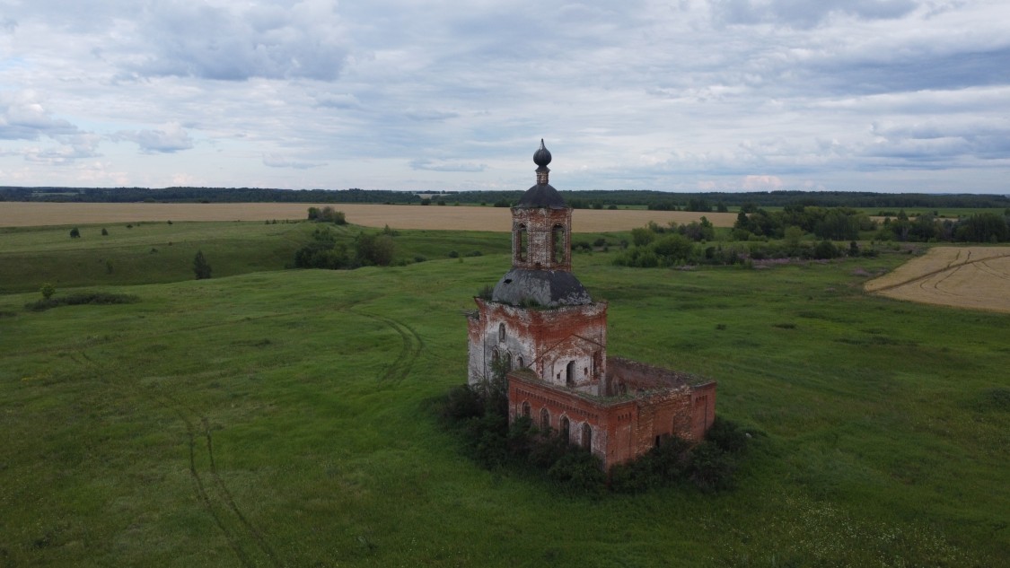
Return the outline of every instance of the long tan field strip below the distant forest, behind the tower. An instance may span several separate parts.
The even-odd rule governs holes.
[[[0,203],[0,227],[40,225],[92,225],[138,221],[266,221],[305,219],[309,207],[330,206],[342,211],[347,222],[366,227],[389,225],[396,229],[450,229],[462,231],[509,231],[511,216],[506,208],[419,205],[365,205],[311,203]],[[690,223],[701,213],[686,211],[580,209],[572,230],[578,233],[628,231],[649,221]],[[706,213],[717,227],[731,227],[734,213]]]

